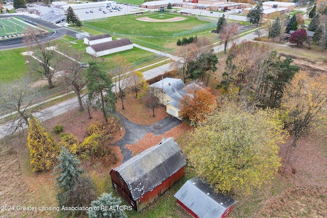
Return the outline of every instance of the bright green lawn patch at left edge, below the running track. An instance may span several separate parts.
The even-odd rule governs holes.
[[[25,57],[21,54],[25,51],[25,48],[0,51],[0,82],[18,79],[29,71]]]

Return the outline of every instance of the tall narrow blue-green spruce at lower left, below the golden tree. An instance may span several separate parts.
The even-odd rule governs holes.
[[[56,185],[59,189],[57,200],[59,206],[62,207],[68,203],[69,193],[74,190],[77,181],[83,173],[83,169],[79,168],[80,160],[75,157],[69,150],[61,147],[60,156],[57,157],[59,165],[54,168]]]

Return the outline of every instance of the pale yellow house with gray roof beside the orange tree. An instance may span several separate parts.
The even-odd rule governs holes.
[[[200,88],[196,83],[186,86],[181,79],[165,78],[149,85],[150,92],[159,98],[161,104],[166,105],[166,113],[182,119],[180,101],[191,89]]]

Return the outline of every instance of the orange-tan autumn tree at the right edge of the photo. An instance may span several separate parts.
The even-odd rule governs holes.
[[[327,76],[310,77],[308,72],[300,71],[286,86],[282,103],[290,117],[287,126],[294,135],[292,145],[295,147],[327,105]]]

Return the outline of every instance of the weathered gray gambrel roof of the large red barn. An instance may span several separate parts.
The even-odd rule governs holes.
[[[185,157],[173,138],[132,157],[112,169],[126,182],[134,201],[141,198],[185,166]]]

